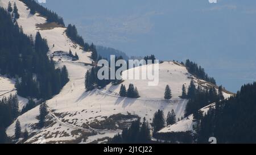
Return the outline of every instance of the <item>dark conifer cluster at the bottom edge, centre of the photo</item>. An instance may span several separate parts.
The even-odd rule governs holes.
[[[150,127],[146,118],[131,123],[130,128],[124,128],[121,135],[115,135],[110,144],[148,144],[151,142]]]

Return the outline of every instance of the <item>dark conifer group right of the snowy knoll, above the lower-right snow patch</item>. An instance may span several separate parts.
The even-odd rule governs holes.
[[[196,88],[193,81],[191,81],[188,94],[188,104],[185,108],[185,116],[195,114],[200,108],[208,106],[211,103],[218,102],[224,99],[222,94],[222,86],[219,87],[218,92],[215,87],[202,89],[200,86]]]

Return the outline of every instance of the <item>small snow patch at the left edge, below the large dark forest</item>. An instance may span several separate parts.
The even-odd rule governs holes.
[[[8,98],[10,95],[15,95],[17,93],[15,89],[15,82],[12,79],[0,76],[0,100],[4,97]],[[19,110],[22,110],[26,106],[28,99],[20,97],[19,100]]]

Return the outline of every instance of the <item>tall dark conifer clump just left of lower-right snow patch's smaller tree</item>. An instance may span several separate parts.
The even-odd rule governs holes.
[[[160,129],[164,127],[164,113],[162,110],[158,110],[155,112],[153,121],[151,123],[151,126],[153,128],[153,133],[158,132]]]

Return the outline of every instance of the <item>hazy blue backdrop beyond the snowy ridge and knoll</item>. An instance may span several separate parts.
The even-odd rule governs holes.
[[[47,0],[88,42],[202,65],[237,91],[256,77],[255,0]]]

